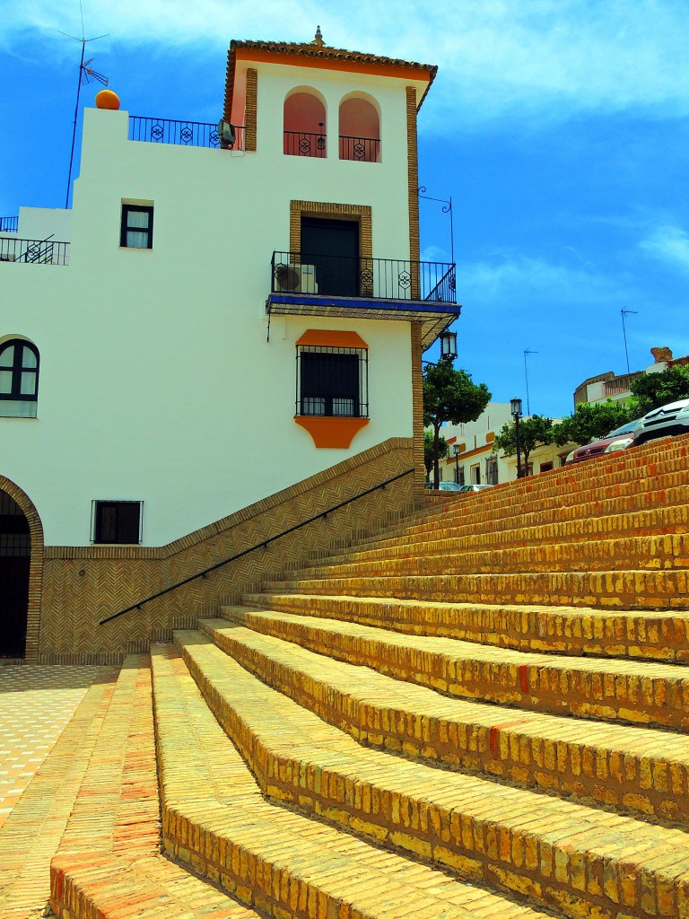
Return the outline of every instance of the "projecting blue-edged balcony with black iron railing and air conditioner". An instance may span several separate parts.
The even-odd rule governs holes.
[[[424,347],[461,312],[454,264],[279,251],[265,308],[269,316],[420,322]]]

